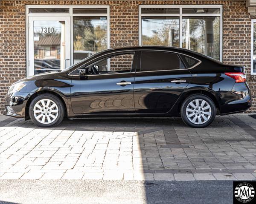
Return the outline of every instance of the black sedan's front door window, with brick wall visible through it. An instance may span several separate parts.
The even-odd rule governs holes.
[[[118,74],[131,72],[134,53],[113,55],[83,67],[83,74]],[[78,74],[79,69],[76,73]],[[81,69],[80,73],[81,75]]]

